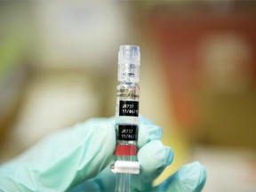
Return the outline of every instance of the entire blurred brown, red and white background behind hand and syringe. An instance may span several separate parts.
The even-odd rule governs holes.
[[[120,44],[140,45],[140,112],[204,191],[256,190],[256,2],[0,2],[0,162],[113,116]]]

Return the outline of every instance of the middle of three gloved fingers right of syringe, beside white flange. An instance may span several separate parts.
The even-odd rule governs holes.
[[[152,182],[172,163],[172,148],[165,147],[160,140],[152,140],[140,148],[138,160],[141,166],[139,175],[132,175],[132,186],[138,190],[152,188]]]

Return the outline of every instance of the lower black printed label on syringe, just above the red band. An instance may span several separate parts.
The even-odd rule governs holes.
[[[137,125],[135,124],[119,124],[118,140],[137,140]]]

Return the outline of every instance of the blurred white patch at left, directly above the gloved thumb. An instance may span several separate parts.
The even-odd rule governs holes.
[[[79,74],[37,76],[26,88],[22,108],[8,134],[2,158],[20,153],[55,130],[99,113],[99,97],[89,78]]]

